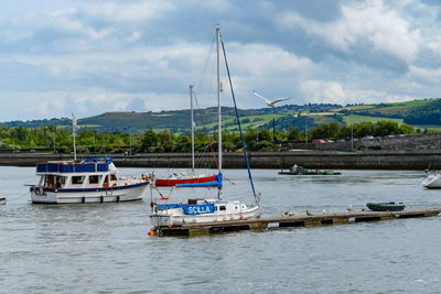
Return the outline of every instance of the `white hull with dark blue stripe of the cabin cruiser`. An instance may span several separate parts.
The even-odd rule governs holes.
[[[83,192],[49,190],[35,187],[31,190],[34,204],[80,204],[80,203],[119,203],[141,200],[148,183],[122,186],[114,189],[97,189]]]

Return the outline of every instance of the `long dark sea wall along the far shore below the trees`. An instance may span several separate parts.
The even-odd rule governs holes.
[[[78,155],[79,159],[97,157],[96,154]],[[104,156],[104,155],[100,155]],[[110,154],[118,167],[168,167],[191,166],[190,153],[139,153],[135,155]],[[212,153],[196,153],[198,168],[216,168]],[[289,151],[249,152],[251,168],[287,170],[293,164],[306,168],[332,170],[426,170],[441,168],[440,151]],[[35,166],[46,161],[72,160],[72,154],[0,154],[2,166]],[[225,152],[224,168],[246,168],[244,154]]]

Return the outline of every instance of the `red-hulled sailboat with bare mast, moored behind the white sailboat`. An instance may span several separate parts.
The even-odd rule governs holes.
[[[190,85],[190,106],[191,106],[191,124],[192,124],[192,173],[178,174],[173,173],[166,178],[154,177],[154,185],[157,186],[176,186],[182,184],[207,183],[213,182],[216,175],[206,176],[204,174],[194,173],[194,118],[193,118],[193,85]]]

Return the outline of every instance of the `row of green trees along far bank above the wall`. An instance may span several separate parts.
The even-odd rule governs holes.
[[[304,142],[313,139],[338,140],[362,138],[364,135],[383,137],[390,134],[415,134],[411,126],[398,124],[394,121],[364,122],[353,126],[338,122],[323,123],[308,132],[291,127],[288,131],[276,129],[275,139],[278,142]],[[250,151],[272,151],[281,149],[273,144],[272,131],[268,129],[249,128],[244,134],[247,149]],[[130,134],[128,132],[98,132],[93,129],[82,129],[76,137],[77,150],[84,153],[119,153],[119,152],[190,152],[191,137],[189,133],[173,133],[169,130],[146,131]],[[41,127],[36,129],[0,128],[1,149],[52,149],[55,152],[68,153],[73,149],[73,137],[69,128]],[[240,135],[237,132],[223,132],[223,149],[237,151],[241,148]],[[195,134],[195,150],[207,152],[217,150],[217,133],[206,135],[203,132]]]

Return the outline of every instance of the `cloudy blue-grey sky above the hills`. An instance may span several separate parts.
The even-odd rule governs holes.
[[[216,24],[239,108],[441,97],[437,0],[2,0],[0,121],[189,109]]]

